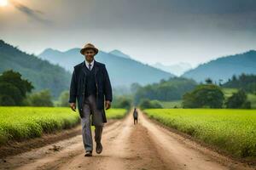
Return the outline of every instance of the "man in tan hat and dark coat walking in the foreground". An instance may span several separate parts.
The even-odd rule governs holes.
[[[70,84],[69,103],[73,111],[76,111],[76,99],[78,99],[79,116],[82,124],[82,135],[85,149],[84,156],[92,156],[93,141],[90,124],[95,128],[96,153],[102,153],[102,128],[107,122],[104,110],[111,107],[112,87],[108,77],[108,71],[104,64],[97,62],[94,57],[98,49],[87,43],[80,50],[84,55],[84,62],[74,66]],[[92,116],[92,121],[90,120]]]

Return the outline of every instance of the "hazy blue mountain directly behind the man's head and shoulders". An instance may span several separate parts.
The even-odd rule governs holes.
[[[79,48],[73,48],[66,52],[57,51],[54,49],[46,49],[38,56],[41,59],[47,59],[53,64],[58,64],[66,68],[68,71],[73,71],[73,66],[84,61],[84,56],[79,53]],[[120,57],[118,55],[127,56],[117,50],[112,53],[99,51],[96,54],[96,61],[102,62],[108,69],[108,74],[113,87],[130,86],[133,82],[138,82],[145,85],[152,82],[159,82],[161,79],[173,77],[171,73],[160,71],[150,65],[144,65],[130,57]]]

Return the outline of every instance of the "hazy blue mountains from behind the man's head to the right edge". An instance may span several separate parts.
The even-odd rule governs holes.
[[[49,48],[39,54],[39,57],[54,64],[59,64],[68,71],[73,71],[73,65],[84,60],[84,56],[79,54],[79,48],[73,48],[66,52]],[[256,51],[254,50],[219,57],[198,65],[194,69],[191,68],[189,63],[185,62],[177,65],[163,65],[160,63],[152,66],[145,65],[119,50],[113,50],[109,53],[100,51],[96,55],[96,60],[107,65],[112,82],[117,86],[128,85],[132,82],[145,85],[174,75],[193,78],[196,82],[204,82],[208,77],[214,82],[218,82],[220,79],[226,82],[233,75],[240,75],[241,73],[256,74]]]

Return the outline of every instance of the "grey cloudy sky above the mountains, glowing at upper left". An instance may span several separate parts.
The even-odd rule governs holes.
[[[0,39],[27,53],[92,42],[143,63],[195,66],[256,49],[255,0],[3,1]]]

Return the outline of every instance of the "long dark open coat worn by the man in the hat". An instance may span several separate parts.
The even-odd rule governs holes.
[[[85,67],[85,61],[74,66],[69,91],[69,103],[76,103],[76,99],[78,99],[80,117],[83,115],[82,111],[86,78]],[[104,97],[105,100],[112,101],[112,87],[105,65],[95,60],[94,67],[96,78],[96,105],[98,110],[102,110],[103,122],[107,122],[107,117],[104,110]]]

